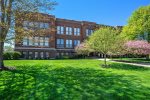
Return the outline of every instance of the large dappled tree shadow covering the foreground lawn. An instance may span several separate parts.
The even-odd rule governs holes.
[[[92,68],[20,67],[1,72],[1,99],[137,100],[150,99],[150,88],[135,76]]]

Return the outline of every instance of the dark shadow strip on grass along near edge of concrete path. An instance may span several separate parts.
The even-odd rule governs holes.
[[[129,65],[129,64],[121,64],[121,63],[111,63],[110,68],[120,69],[120,70],[137,70],[137,71],[150,70],[150,68],[148,68],[148,67],[135,66],[135,65]]]

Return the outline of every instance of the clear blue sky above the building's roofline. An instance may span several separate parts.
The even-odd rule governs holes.
[[[106,25],[125,25],[134,10],[150,0],[56,0],[51,14],[58,18],[84,20]]]

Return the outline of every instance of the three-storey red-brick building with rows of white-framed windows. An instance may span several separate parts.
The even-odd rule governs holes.
[[[74,47],[99,26],[94,22],[61,19],[39,13],[18,15],[16,19],[16,26],[22,27],[26,34],[21,41],[15,42],[15,51],[21,52],[25,59],[73,55]],[[33,31],[34,35],[28,36],[28,31]],[[16,33],[16,36],[21,34],[18,30]]]

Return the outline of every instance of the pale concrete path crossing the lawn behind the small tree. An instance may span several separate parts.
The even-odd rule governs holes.
[[[98,60],[104,61],[104,59],[98,59]],[[137,63],[119,62],[119,61],[113,61],[111,59],[107,59],[107,61],[115,62],[115,63],[123,63],[123,64],[135,65],[135,66],[141,66],[141,67],[149,67],[150,68],[150,64],[144,64],[144,63],[137,64]]]

